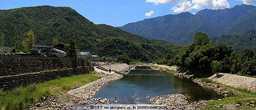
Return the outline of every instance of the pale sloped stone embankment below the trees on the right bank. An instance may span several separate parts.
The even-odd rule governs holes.
[[[251,92],[256,92],[255,78],[219,73],[218,76],[213,75],[209,77],[209,79],[212,79],[215,82],[220,82],[228,86],[234,86],[236,88],[245,88],[247,90],[251,90]]]

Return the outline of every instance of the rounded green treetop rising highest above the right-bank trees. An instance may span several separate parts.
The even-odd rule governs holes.
[[[209,44],[209,37],[206,35],[206,33],[198,32],[194,36],[194,44],[195,45],[207,45]]]

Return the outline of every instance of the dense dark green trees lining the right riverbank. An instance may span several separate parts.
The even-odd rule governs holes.
[[[231,46],[213,45],[205,33],[196,33],[194,43],[183,46],[175,56],[167,54],[160,64],[186,67],[207,71],[205,73],[232,73],[236,75],[256,75],[256,52],[245,48],[234,52]]]

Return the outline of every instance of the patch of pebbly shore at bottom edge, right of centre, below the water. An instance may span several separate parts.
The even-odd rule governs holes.
[[[207,101],[205,100],[188,103],[186,99],[187,97],[182,94],[156,96],[150,99],[150,104],[167,105],[168,109],[199,109],[198,107],[207,109]]]

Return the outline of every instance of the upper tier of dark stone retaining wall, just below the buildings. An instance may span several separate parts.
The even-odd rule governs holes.
[[[82,60],[0,60],[0,77],[82,66]]]

